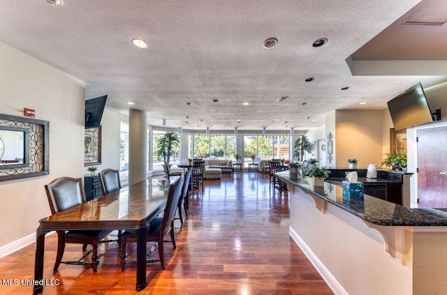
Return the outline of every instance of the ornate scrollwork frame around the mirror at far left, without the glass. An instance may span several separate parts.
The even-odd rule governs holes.
[[[0,129],[24,133],[24,162],[1,165],[0,181],[50,174],[50,123],[21,116],[0,114]],[[30,151],[33,151],[30,153]]]

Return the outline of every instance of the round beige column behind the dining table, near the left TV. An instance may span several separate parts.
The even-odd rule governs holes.
[[[129,186],[146,179],[147,173],[147,114],[129,110]]]

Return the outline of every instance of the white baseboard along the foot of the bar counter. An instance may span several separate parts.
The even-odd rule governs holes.
[[[300,236],[293,230],[292,227],[289,227],[288,234],[291,236],[293,241],[298,245],[298,247],[301,248],[302,252],[305,253],[306,257],[310,260],[310,262],[314,265],[316,268],[316,271],[320,273],[320,275],[323,277],[323,280],[328,284],[330,289],[332,289],[332,292],[334,292],[337,295],[349,295],[348,292],[340,285],[340,283],[337,281],[337,279],[330,273],[328,268],[324,266],[324,264],[316,257],[314,252],[307,246],[305,241],[301,239]]]

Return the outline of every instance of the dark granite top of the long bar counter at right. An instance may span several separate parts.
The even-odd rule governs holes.
[[[369,195],[364,195],[363,199],[353,199],[343,196],[341,183],[325,182],[324,186],[314,187],[312,179],[292,179],[288,172],[278,172],[276,175],[374,225],[447,226],[446,209],[409,209]]]

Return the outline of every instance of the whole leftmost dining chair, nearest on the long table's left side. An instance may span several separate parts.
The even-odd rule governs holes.
[[[80,205],[86,201],[82,179],[71,177],[61,177],[55,179],[51,183],[45,185],[48,202],[50,204],[51,213],[55,214],[73,206]],[[85,265],[90,264],[94,272],[96,272],[99,264],[98,245],[108,241],[102,241],[110,231],[105,230],[79,230],[79,231],[57,231],[57,256],[54,263],[53,271],[57,271],[61,263]],[[64,256],[65,244],[76,243],[82,244],[82,250],[87,249],[87,245],[91,245],[92,249],[85,253],[78,261],[62,262]],[[91,253],[91,262],[85,262],[85,259]]]

